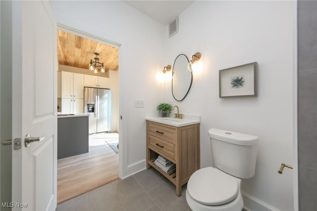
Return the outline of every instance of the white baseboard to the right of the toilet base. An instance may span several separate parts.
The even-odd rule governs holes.
[[[258,198],[242,192],[243,209],[246,211],[279,211]]]

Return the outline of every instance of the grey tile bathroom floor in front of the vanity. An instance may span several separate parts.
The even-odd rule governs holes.
[[[175,186],[154,168],[115,180],[57,205],[56,211],[190,211]]]

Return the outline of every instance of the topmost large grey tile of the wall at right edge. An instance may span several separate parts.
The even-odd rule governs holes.
[[[317,68],[317,1],[298,1],[298,69]]]

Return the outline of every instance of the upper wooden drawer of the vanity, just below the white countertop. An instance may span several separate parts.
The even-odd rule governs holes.
[[[176,144],[176,129],[172,126],[149,123],[149,134],[165,142]]]

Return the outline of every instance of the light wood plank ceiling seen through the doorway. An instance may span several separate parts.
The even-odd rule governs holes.
[[[99,53],[99,62],[106,70],[118,70],[118,49],[104,43],[57,30],[57,58],[59,64],[87,69],[91,59]],[[99,70],[100,71],[100,70]]]

